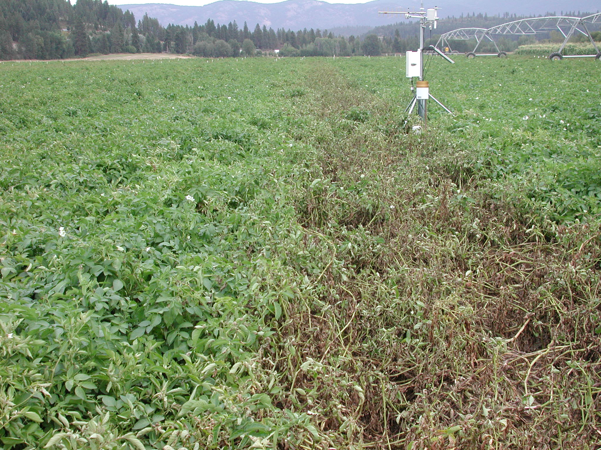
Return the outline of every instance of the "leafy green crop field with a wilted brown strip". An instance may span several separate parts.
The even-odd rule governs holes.
[[[600,78],[0,64],[4,448],[599,448]]]

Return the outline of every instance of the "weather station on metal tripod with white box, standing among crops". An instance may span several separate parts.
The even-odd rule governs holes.
[[[417,113],[423,119],[424,124],[427,122],[427,101],[432,98],[439,106],[442,107],[446,112],[450,113],[451,110],[448,109],[444,104],[440,101],[436,100],[436,98],[430,93],[430,85],[424,80],[424,32],[426,28],[436,29],[436,23],[439,20],[438,10],[440,8],[428,8],[424,10],[424,4],[422,2],[421,8],[419,11],[378,11],[379,14],[402,14],[405,16],[405,19],[419,19],[419,49],[415,52],[406,52],[406,74],[405,76],[411,79],[411,90],[413,91],[413,99],[410,101],[409,105],[405,109],[405,112],[411,114],[415,106],[417,105]],[[445,60],[454,64],[453,59],[449,58],[445,55],[441,50],[437,49],[434,46],[429,46],[427,50],[432,50],[433,52],[441,55]],[[413,86],[413,79],[418,78],[418,81],[415,83],[415,88]]]

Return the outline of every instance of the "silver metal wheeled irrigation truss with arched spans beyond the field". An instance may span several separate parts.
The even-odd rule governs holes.
[[[591,14],[585,17],[572,17],[572,16],[548,16],[548,17],[531,17],[530,19],[514,20],[513,22],[503,23],[502,25],[496,25],[488,29],[484,28],[458,28],[453,31],[446,32],[441,35],[436,47],[441,44],[445,47],[451,48],[448,41],[450,40],[476,40],[476,46],[474,50],[466,53],[468,58],[474,58],[477,56],[478,47],[484,39],[492,41],[495,44],[495,49],[498,56],[504,56],[505,52],[501,52],[496,44],[495,36],[498,35],[533,35],[546,33],[549,31],[559,31],[564,37],[564,41],[561,44],[557,52],[551,53],[549,59],[562,59],[562,58],[575,58],[594,56],[597,59],[601,58],[601,51],[595,43],[590,31],[588,31],[587,24],[601,23],[601,13]],[[596,50],[595,55],[563,55],[562,52],[566,47],[567,42],[576,33],[580,33],[588,37],[588,40],[593,44]],[[484,53],[483,55],[494,55],[494,53]]]

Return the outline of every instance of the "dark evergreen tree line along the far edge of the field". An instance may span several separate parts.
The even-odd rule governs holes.
[[[490,28],[523,18],[509,13],[447,17],[439,22],[438,34],[431,32],[427,36],[426,44],[435,44],[441,33],[453,29]],[[136,22],[130,11],[123,12],[106,0],[77,0],[75,5],[67,0],[0,1],[0,59],[63,59],[124,52],[191,53],[205,58],[276,51],[280,56],[377,56],[416,49],[418,33],[416,22],[380,26],[368,34],[349,37],[335,36],[327,29],[305,28],[295,32],[284,28],[274,30],[258,23],[250,29],[246,22],[239,27],[235,20],[227,25],[209,19],[202,25],[195,22],[194,26],[163,27],[148,14]],[[556,37],[549,35],[549,38]],[[505,51],[514,50],[520,43],[513,37],[498,40],[499,48]],[[469,51],[472,46],[471,41],[456,41],[453,49]]]

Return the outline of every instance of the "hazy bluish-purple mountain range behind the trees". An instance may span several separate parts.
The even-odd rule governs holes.
[[[398,14],[378,14],[378,11],[398,11],[410,8],[419,11],[419,2],[416,0],[400,2],[391,0],[375,0],[363,4],[331,4],[319,0],[286,0],[284,2],[263,4],[246,0],[219,0],[204,6],[178,6],[171,4],[141,4],[119,5],[123,10],[131,11],[138,19],[145,13],[156,17],[163,26],[173,23],[175,25],[199,25],[207,19],[215,23],[227,24],[236,20],[240,28],[244,22],[248,27],[254,28],[255,24],[266,25],[267,28],[285,28],[298,30],[303,28],[334,28],[343,26],[380,26],[391,23],[403,22],[404,16]],[[546,13],[561,14],[563,11],[599,11],[599,0],[507,0],[503,2],[493,0],[449,0],[426,4],[426,8],[438,4],[441,9],[439,16],[459,17],[461,14],[486,13],[517,14],[525,16],[540,16]]]

